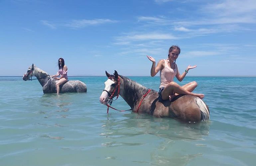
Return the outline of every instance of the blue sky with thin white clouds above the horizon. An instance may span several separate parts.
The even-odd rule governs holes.
[[[0,0],[0,76],[150,76],[179,45],[180,73],[255,76],[255,0]],[[159,75],[159,74],[157,74]]]

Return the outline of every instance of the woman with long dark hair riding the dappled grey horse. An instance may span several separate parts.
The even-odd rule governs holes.
[[[57,90],[57,94],[60,93],[60,85],[64,84],[65,82],[68,81],[67,79],[67,66],[65,65],[65,61],[63,58],[59,58],[58,60],[58,65],[59,65],[59,71],[57,72],[56,75],[52,75],[52,78],[54,78],[55,80],[59,80],[56,83],[56,90]],[[58,78],[57,76],[60,76],[60,78]]]

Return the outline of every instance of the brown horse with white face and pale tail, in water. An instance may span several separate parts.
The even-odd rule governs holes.
[[[157,91],[150,90],[129,78],[118,75],[110,75],[105,82],[99,100],[108,107],[112,99],[120,94],[131,107],[132,112],[148,113],[155,117],[176,118],[183,122],[199,122],[209,120],[209,108],[198,97],[192,95],[178,95],[171,102],[165,100],[159,102]]]

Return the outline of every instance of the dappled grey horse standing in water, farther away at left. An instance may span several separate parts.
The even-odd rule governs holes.
[[[24,81],[34,80],[32,79],[32,76],[37,77],[39,83],[43,87],[44,93],[57,93],[57,90],[56,90],[57,81],[54,78],[51,78],[51,76],[47,74],[45,71],[36,67],[34,64],[32,64],[32,66],[29,66],[27,72],[23,75],[23,80]],[[29,79],[29,77],[31,78]],[[86,92],[86,91],[87,91],[86,85],[79,80],[70,80],[60,85],[60,93]]]

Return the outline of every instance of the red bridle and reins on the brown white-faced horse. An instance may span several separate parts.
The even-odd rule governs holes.
[[[111,77],[108,77],[108,79],[115,79],[115,78],[113,78],[113,77],[112,77],[112,78],[111,78]],[[120,112],[132,110],[132,109],[129,109],[129,110],[117,110],[117,109],[115,109],[114,107],[111,107],[111,106],[110,106],[110,105],[112,104],[113,100],[114,100],[112,97],[113,97],[113,95],[115,94],[115,92],[116,92],[117,89],[118,89],[118,91],[117,91],[117,97],[116,97],[116,99],[118,98],[119,93],[120,93],[120,80],[119,80],[119,77],[117,77],[117,79],[115,79],[115,80],[117,80],[117,85],[116,85],[116,87],[115,87],[115,89],[114,89],[114,91],[113,91],[112,94],[110,94],[110,93],[109,93],[107,90],[105,90],[105,89],[103,90],[103,91],[106,91],[106,92],[108,93],[108,95],[110,96],[109,99],[108,99],[108,102],[107,102],[107,113],[108,113],[109,107],[112,108],[112,109],[114,109],[114,110],[116,110],[116,111],[120,111]],[[147,93],[144,94],[143,97],[141,98],[140,103],[139,103],[139,106],[138,106],[138,108],[137,108],[137,110],[136,110],[136,113],[138,113],[142,101],[143,101],[144,98],[149,94],[150,91],[151,91],[151,89],[149,89],[149,90],[147,91]],[[116,99],[115,99],[115,100],[116,100]]]

